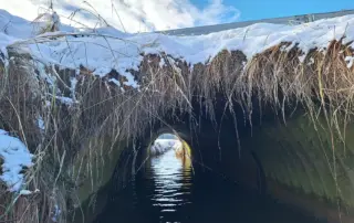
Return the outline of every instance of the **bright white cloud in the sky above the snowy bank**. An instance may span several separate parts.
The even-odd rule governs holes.
[[[1,3],[0,8],[33,20],[48,8],[49,2],[50,0],[11,0]],[[64,18],[81,9],[73,20],[95,26],[100,25],[100,14],[108,24],[127,32],[216,24],[231,22],[239,17],[239,11],[225,6],[222,0],[209,0],[204,9],[198,9],[190,0],[53,0],[53,6],[63,15],[64,23],[80,25]]]

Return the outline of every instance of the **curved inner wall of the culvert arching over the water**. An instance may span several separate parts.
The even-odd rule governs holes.
[[[320,123],[324,124],[323,120]],[[212,170],[256,193],[271,195],[319,217],[333,222],[340,222],[340,217],[342,222],[354,220],[354,139],[351,137],[354,125],[346,129],[344,146],[322,127],[315,128],[305,115],[289,118],[287,124],[269,118],[252,129],[242,123],[238,124],[238,131],[232,118],[222,121],[221,130],[219,124],[207,119],[201,119],[195,129],[190,129],[188,121],[169,124],[175,132],[170,127],[149,129],[138,142],[136,156],[128,156],[133,151],[132,145],[122,144],[113,153],[106,155],[104,166],[95,166],[105,176],[101,176],[95,191],[105,184],[108,187],[104,193],[98,193],[101,198],[107,198],[112,190],[119,190],[122,183],[118,185],[118,182],[124,184],[131,180],[155,138],[174,132],[191,146],[194,164],[205,167],[206,171]],[[90,201],[92,191],[88,180],[80,189],[81,199]]]

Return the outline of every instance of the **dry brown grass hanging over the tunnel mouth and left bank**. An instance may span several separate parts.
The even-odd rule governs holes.
[[[281,43],[251,61],[242,52],[222,51],[212,61],[192,68],[164,53],[145,55],[139,72],[134,72],[140,91],[124,86],[124,92],[107,82],[115,77],[124,83],[115,71],[98,78],[82,67],[76,75],[75,71],[44,66],[30,55],[8,49],[12,59],[3,57],[0,63],[0,127],[19,136],[35,153],[35,166],[28,171],[28,187],[41,192],[35,202],[31,198],[15,200],[11,212],[1,211],[0,221],[21,217],[19,222],[51,222],[58,205],[62,211],[58,221],[66,222],[65,216],[77,203],[74,198],[80,179],[93,176],[91,162],[104,163],[100,159],[103,139],[108,137],[113,149],[116,141],[144,136],[156,123],[168,125],[167,117],[192,117],[194,102],[216,123],[215,105],[220,96],[227,102],[225,110],[235,113],[233,108],[241,106],[250,124],[254,102],[260,107],[272,107],[284,120],[289,106],[299,106],[316,128],[327,129],[345,141],[345,126],[354,112],[354,67],[348,68],[344,59],[353,55],[353,49],[342,40],[333,41],[324,51],[313,49],[301,62],[299,56],[303,53],[296,45],[284,50],[290,45]],[[163,67],[160,60],[165,60]],[[40,73],[60,78],[49,83]],[[74,94],[70,91],[72,78],[77,81]],[[76,103],[67,106],[53,95],[71,97]],[[319,124],[319,115],[326,117],[326,126]],[[45,124],[44,130],[38,127],[39,117]],[[237,118],[240,117],[235,118],[235,125]],[[86,153],[91,162],[79,169],[67,168],[73,167],[82,150],[90,151]],[[1,204],[9,206],[13,198],[4,194]]]

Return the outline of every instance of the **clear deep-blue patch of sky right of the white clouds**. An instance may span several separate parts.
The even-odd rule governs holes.
[[[190,0],[198,8],[208,0]],[[223,0],[240,10],[239,21],[354,9],[354,0]]]

